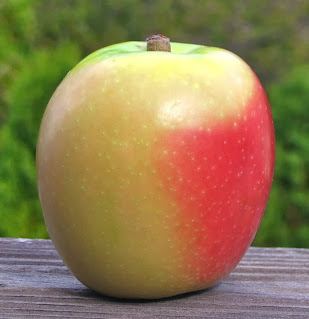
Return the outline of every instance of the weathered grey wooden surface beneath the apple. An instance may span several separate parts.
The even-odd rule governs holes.
[[[250,248],[215,287],[158,301],[100,296],[49,240],[0,238],[0,318],[309,318],[309,249]]]

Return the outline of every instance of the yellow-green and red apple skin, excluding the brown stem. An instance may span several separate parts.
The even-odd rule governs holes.
[[[269,196],[274,128],[251,68],[223,49],[101,49],[53,94],[37,145],[50,237],[89,288],[162,298],[227,276]]]

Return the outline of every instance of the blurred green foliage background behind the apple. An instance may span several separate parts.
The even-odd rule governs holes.
[[[101,47],[163,33],[231,50],[257,73],[273,111],[277,159],[254,244],[309,247],[308,14],[301,0],[0,0],[0,236],[48,237],[35,149],[65,74]]]

